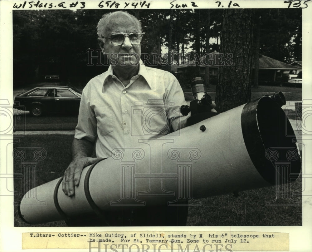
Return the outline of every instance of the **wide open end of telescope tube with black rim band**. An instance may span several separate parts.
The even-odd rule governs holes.
[[[295,133],[273,99],[264,96],[247,103],[241,113],[241,129],[251,161],[267,182],[274,185],[276,175],[283,183],[299,176],[301,160]],[[276,172],[280,164],[289,166],[289,174]]]

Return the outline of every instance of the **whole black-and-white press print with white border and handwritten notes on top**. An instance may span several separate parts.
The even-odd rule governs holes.
[[[12,232],[227,227],[290,233],[299,251],[293,237],[311,232],[312,3],[8,2]]]

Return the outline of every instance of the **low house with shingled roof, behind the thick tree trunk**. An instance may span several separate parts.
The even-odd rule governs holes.
[[[223,55],[218,52],[212,52],[206,56],[208,58],[204,59],[203,57],[200,58],[200,73],[205,73],[204,62],[209,62],[209,75],[217,76],[220,59],[222,59]],[[192,60],[178,66],[178,73],[186,72],[187,69],[189,69],[188,67],[195,67],[196,63],[198,63],[198,61]],[[259,56],[259,83],[262,85],[268,82],[287,82],[288,79],[290,79],[290,75],[293,74],[293,77],[296,77],[296,74],[301,70],[302,67],[299,65],[299,62],[297,62],[297,65],[290,65],[264,55]]]

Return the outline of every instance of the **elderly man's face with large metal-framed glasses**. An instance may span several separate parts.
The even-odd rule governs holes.
[[[112,34],[116,33],[129,34],[139,32],[139,28],[136,26],[134,20],[124,13],[111,17],[107,27],[108,29],[105,34],[102,34],[104,37],[111,37]],[[129,37],[124,37],[124,42],[119,46],[113,45],[110,39],[106,38],[104,50],[108,54],[108,59],[112,65],[131,68],[139,64],[141,45],[132,45]]]

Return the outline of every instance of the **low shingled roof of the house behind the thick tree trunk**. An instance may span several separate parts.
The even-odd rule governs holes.
[[[219,65],[216,64],[217,60],[216,60],[216,55],[220,54],[218,52],[212,52],[210,53],[210,56],[208,56],[208,58],[206,58],[206,62],[209,62],[209,67],[218,67]],[[205,67],[205,64],[203,63],[203,58],[205,56],[200,57],[200,66],[201,67]],[[208,61],[208,59],[213,59],[211,62]],[[197,60],[198,61],[198,60]],[[195,60],[191,60],[189,62],[184,63],[181,66],[178,66],[178,68],[182,68],[182,67],[189,67],[189,66],[195,66],[196,64]],[[289,64],[286,64],[284,62],[272,59],[270,57],[264,56],[264,55],[260,55],[259,57],[259,68],[260,69],[284,69],[284,70],[294,70],[294,69],[301,69],[300,67],[296,67],[296,66],[291,66]]]

